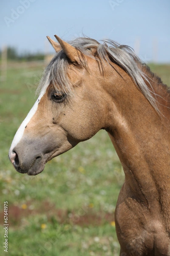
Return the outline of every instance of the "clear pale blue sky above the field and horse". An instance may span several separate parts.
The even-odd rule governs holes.
[[[170,63],[170,0],[1,0],[0,49],[54,50],[46,36],[83,35],[132,47],[144,62]]]

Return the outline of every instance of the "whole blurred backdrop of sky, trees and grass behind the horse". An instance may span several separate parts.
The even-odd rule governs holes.
[[[54,55],[46,36],[55,34],[126,44],[170,85],[170,1],[0,1],[0,255],[7,201],[10,256],[117,256],[114,210],[124,174],[105,131],[36,177],[17,173],[8,160]]]

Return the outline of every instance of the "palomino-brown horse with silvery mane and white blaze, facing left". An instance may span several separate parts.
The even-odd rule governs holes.
[[[47,38],[56,55],[11,143],[11,163],[37,175],[104,129],[125,172],[115,209],[120,256],[170,256],[168,87],[128,46]]]

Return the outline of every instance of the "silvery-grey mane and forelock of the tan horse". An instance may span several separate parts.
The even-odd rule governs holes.
[[[138,89],[143,93],[150,104],[159,112],[157,101],[151,85],[155,80],[153,73],[147,68],[146,64],[135,55],[133,49],[126,45],[121,45],[112,40],[103,40],[103,44],[91,38],[76,38],[68,43],[78,49],[85,55],[91,58],[96,58],[98,61],[108,61],[117,64],[133,79]],[[93,56],[91,49],[96,49],[96,56]],[[82,55],[83,56],[83,55]],[[109,61],[110,60],[110,61]],[[88,67],[84,58],[80,57],[84,67]],[[67,76],[69,60],[63,50],[57,52],[51,62],[45,69],[38,91],[44,87],[48,87],[52,82],[56,90],[62,93],[71,93],[70,81]],[[146,72],[147,71],[147,72]],[[160,82],[160,81],[159,81]]]

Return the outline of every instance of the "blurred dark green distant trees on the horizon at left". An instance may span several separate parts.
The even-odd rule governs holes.
[[[1,56],[1,52],[0,52]],[[44,60],[45,55],[37,52],[37,53],[18,53],[15,47],[7,47],[7,59],[8,60],[16,60],[16,61],[40,61]]]

